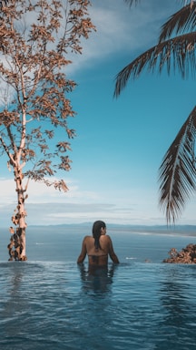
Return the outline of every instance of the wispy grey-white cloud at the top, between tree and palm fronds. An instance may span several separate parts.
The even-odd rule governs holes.
[[[68,71],[74,73],[113,54],[135,55],[136,50],[155,45],[162,23],[173,11],[173,4],[167,2],[141,2],[130,9],[119,0],[93,0],[89,13],[97,31],[82,40],[83,55],[71,57],[73,64]]]

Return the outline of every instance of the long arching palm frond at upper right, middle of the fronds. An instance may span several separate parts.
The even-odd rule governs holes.
[[[121,94],[129,78],[139,77],[145,68],[153,72],[155,67],[158,66],[159,73],[161,73],[162,68],[166,66],[168,74],[170,74],[172,64],[174,72],[178,68],[181,77],[189,76],[190,67],[191,74],[194,75],[196,68],[195,44],[196,32],[192,32],[166,40],[145,51],[117,74],[114,97],[117,98]]]

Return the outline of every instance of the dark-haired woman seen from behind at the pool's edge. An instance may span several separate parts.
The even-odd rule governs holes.
[[[83,262],[86,254],[88,255],[89,265],[107,265],[108,254],[114,263],[119,263],[119,260],[113,251],[113,242],[110,236],[106,236],[106,225],[103,221],[95,221],[93,223],[93,237],[84,237],[82,252],[78,257],[77,263]]]

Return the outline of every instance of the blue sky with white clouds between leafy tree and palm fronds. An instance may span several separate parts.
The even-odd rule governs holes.
[[[68,69],[78,87],[71,99],[72,170],[67,193],[30,183],[27,224],[103,220],[119,224],[165,224],[158,206],[162,157],[195,103],[195,82],[144,73],[113,98],[114,77],[134,57],[156,44],[160,27],[181,1],[143,0],[131,9],[120,0],[93,0],[96,33],[83,42],[83,56]],[[59,174],[60,176],[61,174]],[[62,177],[62,175],[60,176]],[[0,178],[1,226],[11,225],[15,182]],[[196,224],[191,198],[178,224]]]

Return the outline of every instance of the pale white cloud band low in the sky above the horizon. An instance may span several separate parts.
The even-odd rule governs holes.
[[[68,180],[70,191],[59,192],[44,184],[32,182],[27,190],[27,225],[55,225],[103,220],[121,224],[165,224],[163,214],[157,208],[156,193],[152,189],[122,189],[113,193],[81,190],[79,184]],[[15,211],[15,181],[0,179],[0,227],[12,225]],[[69,193],[69,196],[68,196]],[[146,204],[148,202],[148,205]],[[191,201],[179,224],[196,224],[195,202]],[[153,216],[152,216],[153,215]]]

